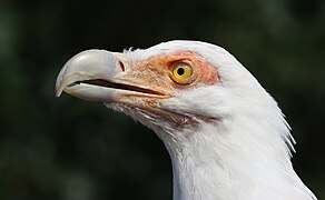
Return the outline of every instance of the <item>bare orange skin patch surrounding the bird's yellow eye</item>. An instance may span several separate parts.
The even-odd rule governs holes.
[[[161,53],[146,60],[130,62],[128,64],[131,70],[127,70],[124,77],[128,82],[131,80],[135,84],[147,86],[148,89],[166,96],[173,96],[176,90],[200,84],[210,86],[219,81],[217,69],[191,51]],[[173,69],[179,62],[189,64],[193,71],[186,80],[175,81]]]

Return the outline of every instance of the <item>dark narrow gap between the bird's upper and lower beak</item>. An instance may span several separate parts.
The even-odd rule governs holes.
[[[68,87],[73,87],[76,84],[91,84],[91,86],[97,86],[97,87],[104,87],[104,88],[110,88],[110,89],[117,89],[117,90],[126,90],[126,91],[135,91],[139,93],[145,93],[145,94],[152,94],[152,96],[161,96],[165,97],[166,94],[156,90],[147,89],[147,88],[141,88],[137,86],[131,86],[131,84],[126,84],[126,83],[118,83],[118,82],[112,82],[104,79],[91,79],[91,80],[82,80],[82,81],[76,81],[73,83],[70,83]]]

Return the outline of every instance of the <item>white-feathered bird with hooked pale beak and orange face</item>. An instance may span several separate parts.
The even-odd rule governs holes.
[[[219,46],[86,50],[60,70],[62,92],[152,129],[170,156],[174,200],[317,199],[293,168],[295,140],[277,102]]]

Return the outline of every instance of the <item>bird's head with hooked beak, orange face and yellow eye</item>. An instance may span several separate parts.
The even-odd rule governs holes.
[[[57,78],[56,96],[62,91],[104,102],[154,129],[164,141],[184,140],[201,124],[218,126],[240,116],[258,120],[268,114],[258,111],[278,110],[230,53],[198,41],[169,41],[122,53],[80,52]]]

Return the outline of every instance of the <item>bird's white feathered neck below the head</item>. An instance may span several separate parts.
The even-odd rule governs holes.
[[[250,128],[227,123],[233,128],[205,123],[194,133],[183,130],[177,146],[165,141],[175,200],[312,199],[292,168],[283,138],[260,136],[262,121]]]

